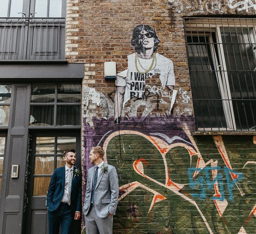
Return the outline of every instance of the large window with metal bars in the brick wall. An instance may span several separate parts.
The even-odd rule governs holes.
[[[198,131],[256,130],[256,19],[185,18]]]

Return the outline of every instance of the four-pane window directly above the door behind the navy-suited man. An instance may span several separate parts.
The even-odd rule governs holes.
[[[80,126],[80,84],[33,84],[30,126]]]

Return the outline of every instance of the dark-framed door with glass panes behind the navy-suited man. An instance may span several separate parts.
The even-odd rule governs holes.
[[[76,150],[76,167],[81,168],[80,131],[58,130],[58,134],[35,134],[32,136],[32,153],[29,157],[27,225],[26,233],[48,233],[46,208],[47,189],[55,168],[65,166],[63,153]]]

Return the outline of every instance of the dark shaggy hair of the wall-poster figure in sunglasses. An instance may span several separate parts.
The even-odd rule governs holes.
[[[134,46],[135,51],[139,51],[140,49],[143,48],[142,45],[138,43],[138,38],[139,38],[139,35],[142,34],[144,30],[147,33],[151,33],[153,35],[154,43],[155,43],[153,52],[155,52],[157,50],[160,40],[157,37],[155,29],[151,28],[149,25],[140,24],[133,29],[131,44]]]

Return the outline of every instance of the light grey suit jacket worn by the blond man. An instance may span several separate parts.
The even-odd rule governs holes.
[[[99,178],[94,193],[94,205],[99,218],[105,218],[109,213],[116,214],[118,202],[118,177],[116,168],[105,163],[108,167],[107,173],[102,173],[100,168]],[[88,214],[92,201],[92,182],[95,166],[88,170],[88,179],[86,185],[85,201],[83,206],[84,215]]]

